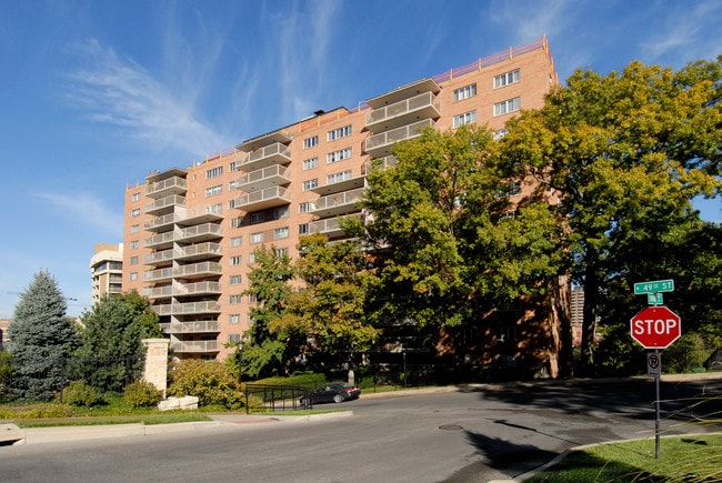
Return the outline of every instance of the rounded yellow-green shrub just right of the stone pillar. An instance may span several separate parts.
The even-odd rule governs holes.
[[[242,405],[238,382],[220,362],[187,359],[170,371],[169,379],[168,395],[198,396],[199,406],[219,404],[234,410]]]

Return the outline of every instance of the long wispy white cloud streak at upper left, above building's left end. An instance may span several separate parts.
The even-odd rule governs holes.
[[[193,97],[174,94],[134,60],[97,40],[80,49],[87,63],[68,76],[68,100],[98,123],[123,129],[146,145],[204,155],[224,140],[194,114]]]

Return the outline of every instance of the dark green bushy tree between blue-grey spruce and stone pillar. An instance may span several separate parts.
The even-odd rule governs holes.
[[[142,373],[142,339],[160,333],[148,299],[134,292],[104,296],[82,315],[81,325],[72,376],[117,393]]]

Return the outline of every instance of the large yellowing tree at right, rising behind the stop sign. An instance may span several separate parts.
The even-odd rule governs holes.
[[[560,200],[563,251],[584,288],[584,373],[609,289],[646,280],[636,268],[696,219],[691,200],[720,193],[721,72],[722,58],[679,72],[640,62],[605,77],[578,70],[544,108],[508,124],[507,171]]]

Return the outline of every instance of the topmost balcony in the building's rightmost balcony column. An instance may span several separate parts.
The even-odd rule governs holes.
[[[388,131],[421,119],[439,119],[439,101],[432,92],[374,109],[367,114],[365,128],[372,132]]]

